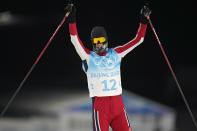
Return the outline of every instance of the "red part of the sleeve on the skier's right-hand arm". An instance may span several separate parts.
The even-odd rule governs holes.
[[[116,47],[114,50],[119,54],[129,50],[131,47],[138,44],[141,38],[144,38],[146,34],[146,28],[147,28],[147,24],[140,24],[136,37],[130,42],[126,43],[125,45]]]

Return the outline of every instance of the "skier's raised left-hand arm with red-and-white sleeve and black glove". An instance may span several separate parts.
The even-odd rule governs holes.
[[[83,43],[79,39],[76,26],[76,7],[73,4],[68,4],[66,10],[71,12],[68,17],[71,42],[74,45],[81,60],[87,60],[89,58],[90,51],[84,47]]]

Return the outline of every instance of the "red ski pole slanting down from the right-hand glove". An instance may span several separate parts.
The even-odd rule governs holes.
[[[165,60],[166,60],[166,62],[167,62],[167,64],[168,64],[168,67],[169,67],[169,69],[170,69],[170,71],[171,71],[171,73],[172,73],[172,76],[173,76],[173,78],[174,78],[174,80],[175,80],[175,82],[176,82],[176,85],[177,85],[177,87],[178,87],[178,89],[179,89],[179,92],[180,92],[182,98],[183,98],[183,101],[184,101],[184,103],[185,103],[185,105],[186,105],[186,108],[187,108],[187,110],[188,110],[188,112],[189,112],[189,114],[190,114],[190,116],[191,116],[191,119],[192,119],[192,121],[193,121],[193,123],[194,123],[194,126],[197,128],[197,123],[196,123],[195,117],[194,117],[194,115],[193,115],[193,113],[192,113],[192,111],[191,111],[191,108],[190,108],[190,106],[189,106],[189,103],[187,102],[187,99],[186,99],[186,97],[185,97],[185,95],[184,95],[184,93],[183,93],[183,91],[182,91],[181,85],[179,84],[178,79],[177,79],[177,77],[176,77],[176,75],[175,75],[175,73],[174,73],[174,71],[173,71],[173,69],[172,69],[172,66],[171,66],[171,64],[170,64],[170,62],[169,62],[169,60],[168,60],[168,57],[167,57],[167,55],[166,55],[166,53],[165,53],[165,51],[164,51],[164,49],[163,49],[163,47],[162,47],[162,44],[161,44],[161,42],[160,42],[160,40],[159,40],[159,37],[157,36],[157,33],[156,33],[156,31],[155,31],[155,28],[153,27],[153,24],[152,24],[152,22],[151,22],[151,19],[150,19],[149,16],[147,16],[147,19],[148,19],[149,24],[150,24],[150,26],[151,26],[151,28],[152,28],[152,31],[153,31],[153,33],[154,33],[156,39],[157,39],[157,42],[158,42],[158,44],[159,44],[159,47],[161,48],[161,51],[162,51],[162,53],[163,53],[163,55],[164,55],[164,58],[165,58]]]

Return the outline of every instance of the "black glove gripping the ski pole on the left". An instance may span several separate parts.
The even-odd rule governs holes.
[[[75,23],[76,22],[76,7],[74,6],[74,4],[69,3],[65,10],[67,12],[70,12],[69,16],[68,16],[68,22],[69,23]]]

